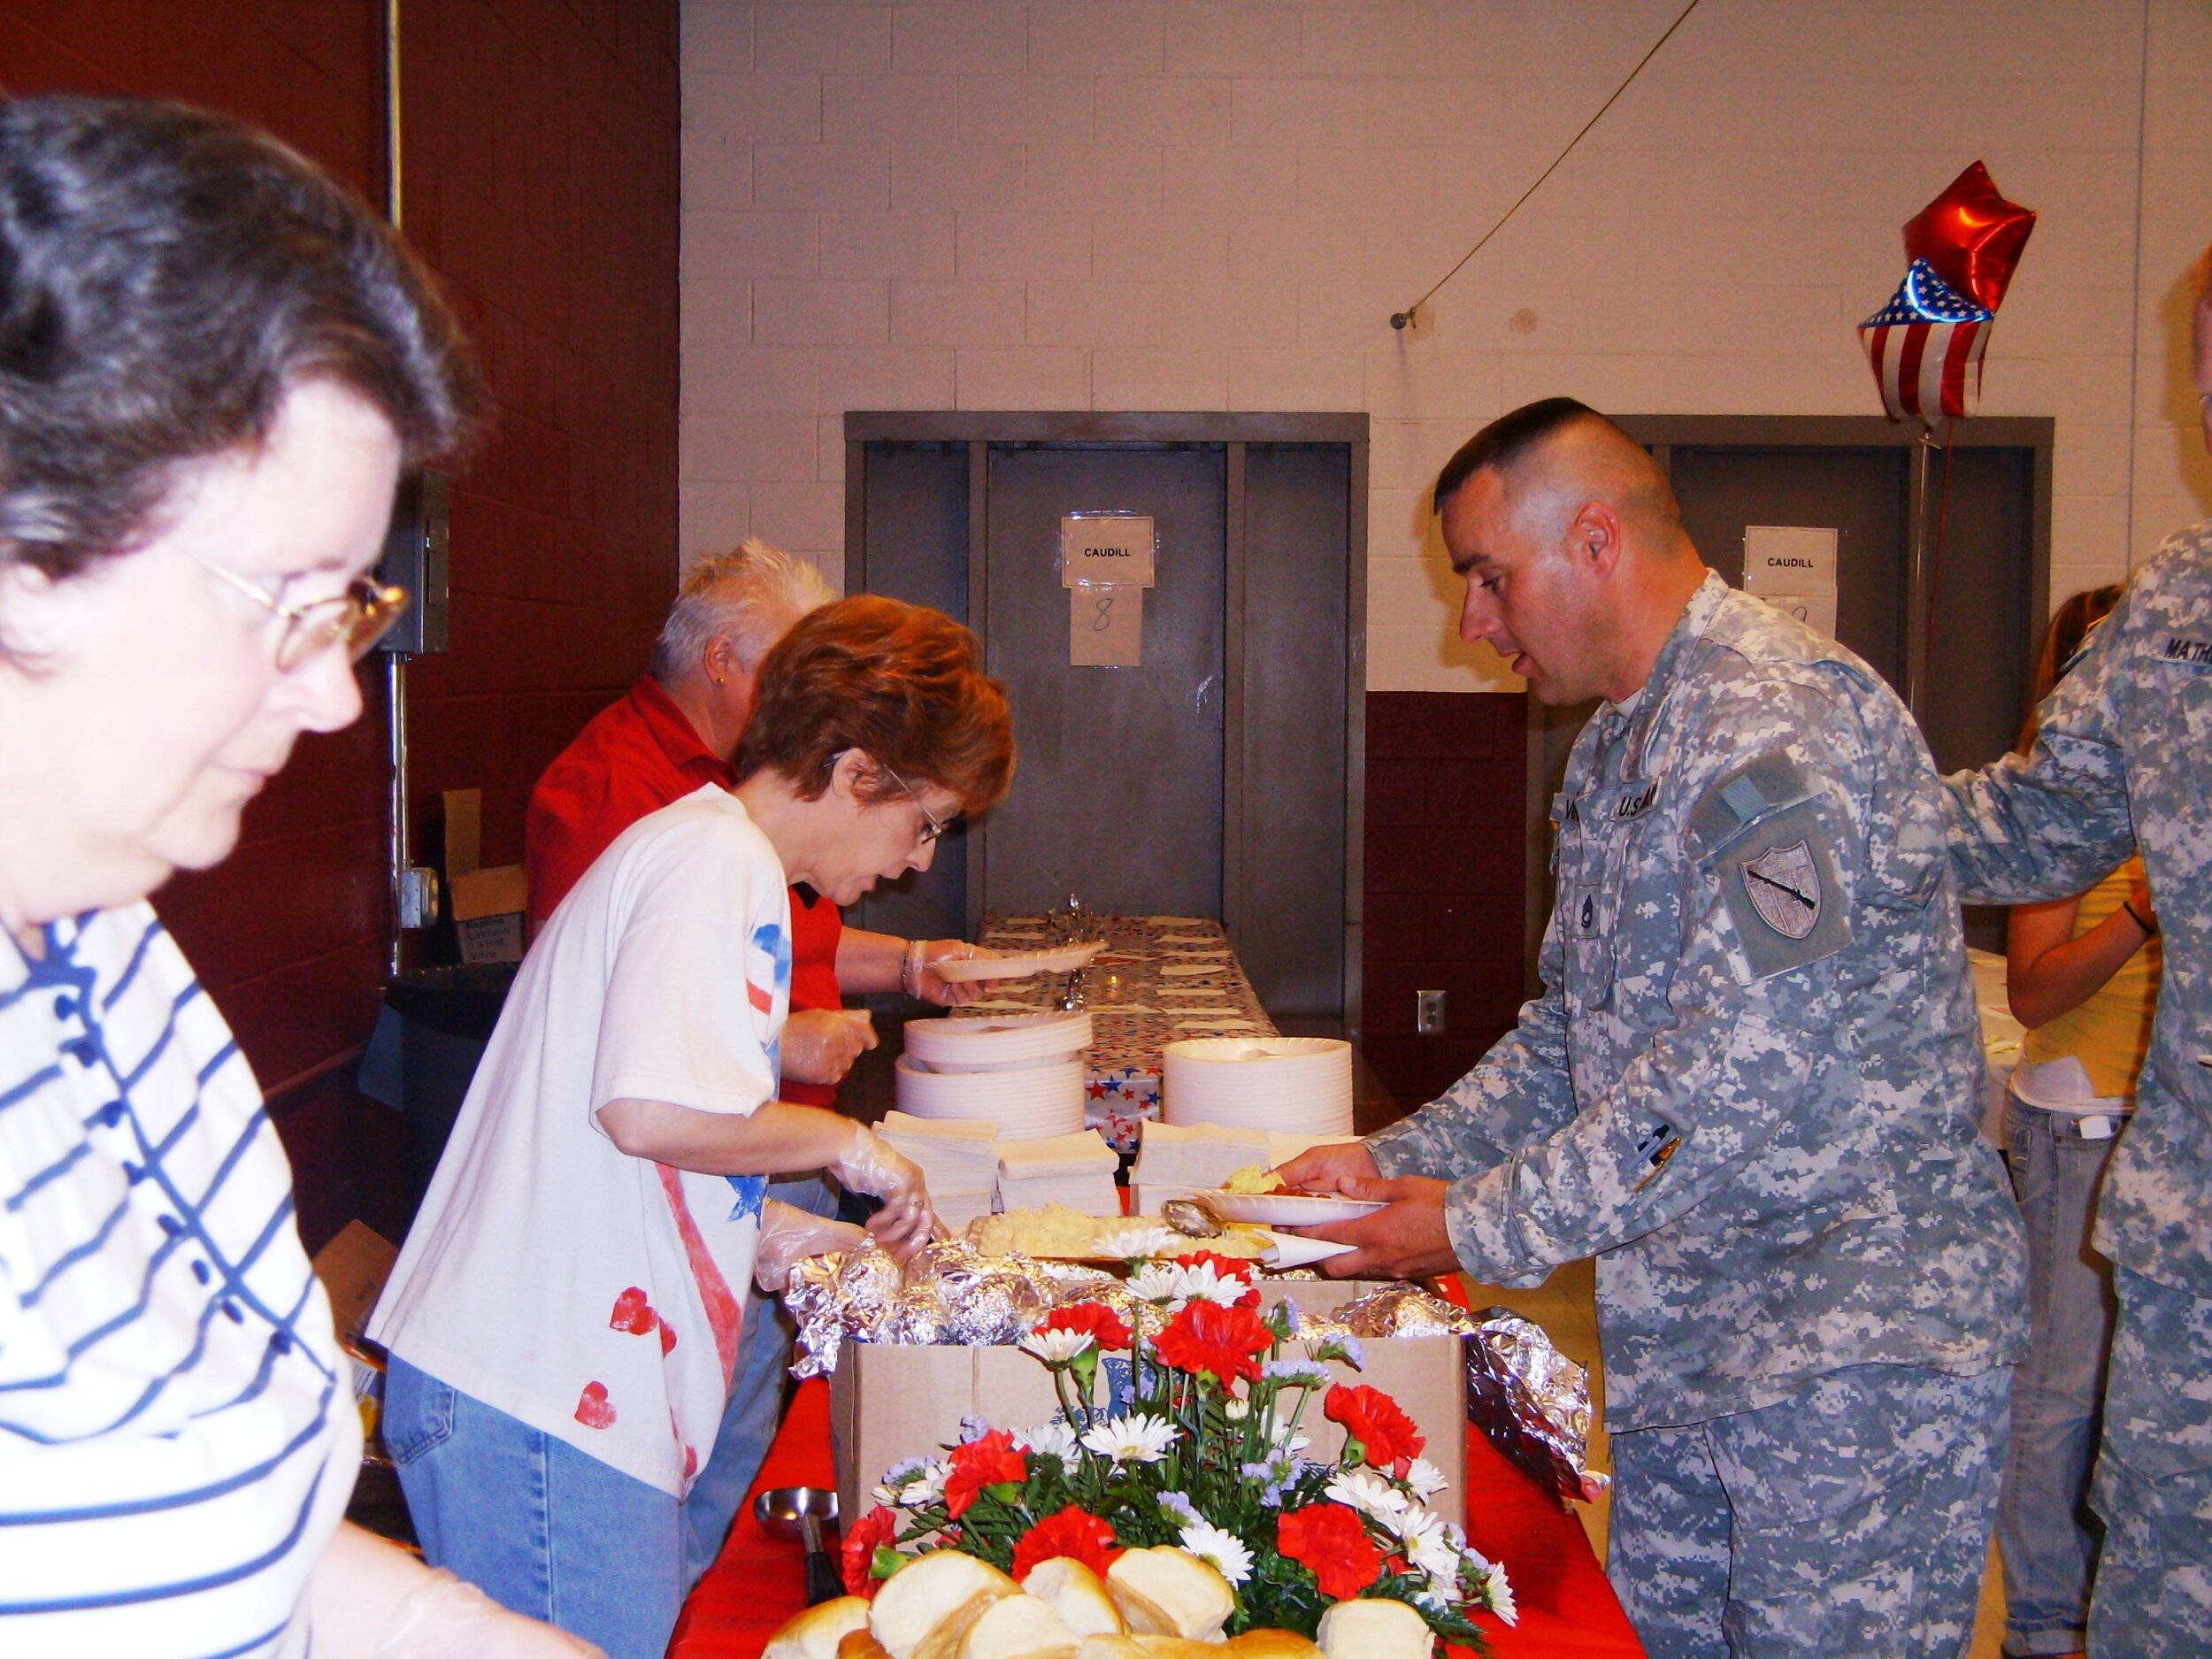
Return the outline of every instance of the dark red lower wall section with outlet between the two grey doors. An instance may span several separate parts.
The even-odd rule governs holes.
[[[1360,1046],[1407,1108],[1455,1082],[1522,1004],[1526,699],[1367,692]],[[1413,1031],[1413,993],[1447,1029]]]

